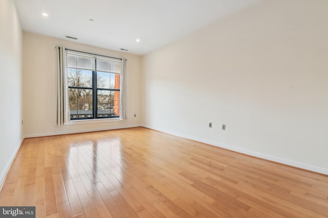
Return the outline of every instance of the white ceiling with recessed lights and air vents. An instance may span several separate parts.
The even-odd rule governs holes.
[[[15,0],[15,4],[25,31],[144,55],[259,1]],[[48,17],[42,16],[44,12]]]

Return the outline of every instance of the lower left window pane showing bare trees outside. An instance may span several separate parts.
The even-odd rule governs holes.
[[[68,89],[70,117],[92,117],[92,90]]]

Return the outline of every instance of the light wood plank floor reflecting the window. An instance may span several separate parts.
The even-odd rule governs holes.
[[[36,217],[328,217],[328,176],[145,128],[25,139],[0,206]]]

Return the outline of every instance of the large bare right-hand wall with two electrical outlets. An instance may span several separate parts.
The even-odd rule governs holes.
[[[263,1],[144,56],[143,125],[328,174],[327,11]]]

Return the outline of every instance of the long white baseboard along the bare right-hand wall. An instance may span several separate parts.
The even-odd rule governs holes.
[[[177,133],[177,132],[172,132],[172,131],[168,131],[168,130],[153,128],[153,127],[147,126],[147,125],[141,125],[141,126],[145,127],[145,128],[148,128],[148,129],[157,130],[157,131],[160,131],[160,132],[163,132],[163,133],[168,133],[170,135],[178,136],[178,137],[181,137],[181,138],[186,138],[186,139],[190,139],[190,140],[210,144],[211,146],[216,146],[216,147],[219,147],[219,148],[228,149],[228,150],[239,152],[239,153],[242,153],[242,154],[247,154],[247,155],[251,155],[251,156],[254,156],[254,157],[259,157],[259,158],[262,158],[262,159],[271,160],[271,161],[274,161],[274,162],[277,162],[277,163],[282,163],[282,164],[285,164],[285,165],[290,165],[290,166],[306,169],[308,171],[313,171],[313,172],[316,172],[316,173],[328,175],[328,168],[322,168],[322,167],[319,167],[319,166],[313,166],[313,165],[310,165],[310,164],[300,163],[300,162],[293,161],[293,160],[288,160],[288,159],[275,157],[275,156],[271,156],[271,155],[267,155],[267,154],[262,154],[262,153],[258,153],[258,152],[254,152],[254,151],[250,151],[250,150],[245,150],[245,149],[229,146],[227,144],[221,144],[221,143],[217,143],[217,142],[214,142],[214,141],[204,140],[204,139],[193,137],[193,136],[190,136],[190,135],[184,135],[184,134],[180,134],[180,133]]]

